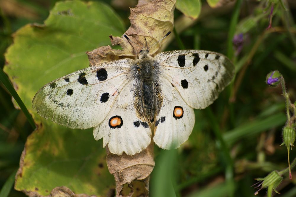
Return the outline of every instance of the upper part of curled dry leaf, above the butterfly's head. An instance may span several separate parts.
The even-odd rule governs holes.
[[[146,4],[140,4],[135,8],[131,8],[129,19],[131,26],[126,30],[127,35],[133,44],[133,47],[138,52],[140,46],[145,46],[145,38],[147,39],[148,47],[152,46],[149,51],[154,55],[160,48],[159,40],[173,29],[174,6],[176,0],[154,0]],[[119,45],[122,49],[112,49],[111,46],[102,46],[93,51],[86,52],[89,57],[91,66],[109,62],[121,58],[133,58],[135,56],[131,45],[126,38],[110,36],[113,46]]]

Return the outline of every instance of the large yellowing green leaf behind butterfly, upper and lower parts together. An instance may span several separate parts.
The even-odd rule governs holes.
[[[23,151],[15,188],[49,195],[60,186],[77,194],[107,196],[115,188],[102,141],[92,129],[71,130],[42,119],[32,109],[35,93],[46,83],[89,66],[86,51],[121,36],[123,22],[101,2],[58,2],[44,25],[29,24],[14,35],[4,71],[38,123]]]

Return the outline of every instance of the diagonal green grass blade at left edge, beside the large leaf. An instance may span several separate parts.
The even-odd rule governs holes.
[[[25,104],[22,102],[22,99],[20,99],[20,96],[15,91],[15,88],[13,88],[12,84],[10,83],[8,77],[5,75],[2,69],[0,69],[0,81],[4,84],[5,88],[9,91],[9,93],[12,95],[12,97],[15,99],[17,104],[20,106],[20,109],[24,112],[25,116],[28,119],[28,122],[32,126],[33,129],[36,128],[34,120],[30,113],[28,112],[28,109],[26,108]]]

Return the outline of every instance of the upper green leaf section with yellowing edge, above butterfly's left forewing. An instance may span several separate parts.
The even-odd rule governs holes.
[[[43,85],[88,67],[86,51],[110,44],[110,34],[123,33],[123,22],[106,4],[58,2],[44,25],[28,24],[15,33],[4,71],[34,118],[31,102]]]

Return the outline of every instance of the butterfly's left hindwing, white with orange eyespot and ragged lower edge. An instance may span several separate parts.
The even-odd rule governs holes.
[[[151,141],[151,129],[144,117],[142,93],[137,79],[129,81],[120,91],[105,120],[94,127],[94,138],[103,138],[111,153],[133,155]]]

